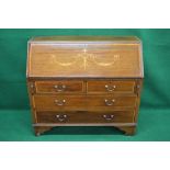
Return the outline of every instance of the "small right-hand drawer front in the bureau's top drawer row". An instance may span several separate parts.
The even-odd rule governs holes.
[[[135,81],[88,81],[88,93],[134,93]]]

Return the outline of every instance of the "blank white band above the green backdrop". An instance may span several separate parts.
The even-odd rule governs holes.
[[[168,0],[0,0],[1,27],[169,27]]]

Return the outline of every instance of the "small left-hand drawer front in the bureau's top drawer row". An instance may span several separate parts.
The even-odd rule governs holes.
[[[83,92],[83,81],[36,81],[37,93]]]

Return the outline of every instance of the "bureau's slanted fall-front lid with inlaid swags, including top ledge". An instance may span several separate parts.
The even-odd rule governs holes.
[[[35,37],[27,77],[143,78],[141,44],[133,36]]]

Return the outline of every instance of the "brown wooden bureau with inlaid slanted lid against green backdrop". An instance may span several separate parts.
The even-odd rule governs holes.
[[[133,135],[143,78],[137,37],[30,39],[26,79],[35,135],[56,126],[113,126]]]

